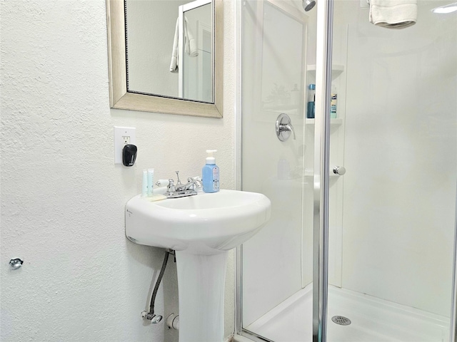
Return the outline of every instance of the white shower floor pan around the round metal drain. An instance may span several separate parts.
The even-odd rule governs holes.
[[[311,286],[307,286],[246,330],[274,342],[311,342],[312,295]],[[334,316],[348,318],[351,323],[333,323]],[[329,342],[449,341],[449,318],[335,286],[328,287],[327,326]]]

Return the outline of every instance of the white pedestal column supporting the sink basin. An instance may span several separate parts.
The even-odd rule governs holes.
[[[179,342],[222,342],[227,252],[176,251]]]

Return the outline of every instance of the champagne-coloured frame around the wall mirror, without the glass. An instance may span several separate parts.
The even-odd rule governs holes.
[[[109,63],[109,103],[111,108],[145,112],[222,118],[224,87],[223,70],[223,3],[214,4],[214,103],[169,98],[160,95],[141,95],[127,91],[126,28],[124,0],[106,0]],[[171,51],[171,50],[170,50]],[[159,80],[160,81],[160,80]]]

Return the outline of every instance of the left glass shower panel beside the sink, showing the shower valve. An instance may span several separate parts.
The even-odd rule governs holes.
[[[284,301],[311,282],[311,237],[306,274],[302,268],[304,202],[311,195],[303,167],[308,17],[293,1],[248,0],[242,11],[242,190],[266,195],[272,212],[242,247],[241,324],[243,333],[274,341]]]

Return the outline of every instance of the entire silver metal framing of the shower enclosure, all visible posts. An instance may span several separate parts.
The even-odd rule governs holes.
[[[273,2],[273,1],[272,1]],[[242,22],[243,5],[236,0],[236,174],[235,184],[241,181],[241,101],[242,101]],[[317,1],[316,38],[316,118],[314,126],[313,167],[313,342],[326,342],[328,309],[328,197],[330,181],[330,100],[333,51],[333,0]],[[451,293],[450,342],[457,342],[457,189],[456,221],[454,227],[453,277]],[[243,329],[242,278],[243,245],[236,248],[236,309],[235,333],[252,341],[273,342]]]

